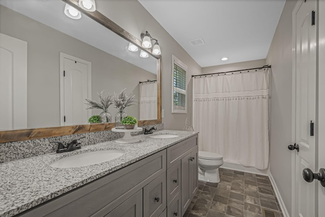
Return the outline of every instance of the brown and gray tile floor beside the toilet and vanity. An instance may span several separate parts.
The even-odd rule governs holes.
[[[199,181],[183,217],[282,217],[268,176],[219,168],[220,183]]]

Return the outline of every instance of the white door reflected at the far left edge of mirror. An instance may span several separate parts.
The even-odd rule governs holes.
[[[0,130],[27,128],[27,42],[0,33]]]

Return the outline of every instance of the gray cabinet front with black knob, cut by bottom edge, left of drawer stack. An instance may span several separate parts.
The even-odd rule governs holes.
[[[143,217],[159,216],[166,208],[166,171],[143,188]]]

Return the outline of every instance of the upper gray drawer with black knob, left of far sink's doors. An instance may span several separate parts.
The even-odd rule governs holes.
[[[181,161],[178,161],[167,170],[167,205],[180,192],[181,185]]]

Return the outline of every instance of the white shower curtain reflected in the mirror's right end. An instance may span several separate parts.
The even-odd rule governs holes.
[[[140,120],[157,119],[157,82],[144,82],[140,85]]]

